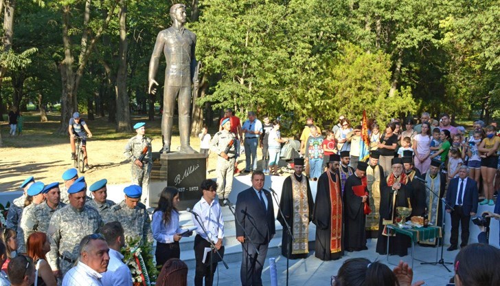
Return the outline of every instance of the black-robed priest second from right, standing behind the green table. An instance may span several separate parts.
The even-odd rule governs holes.
[[[407,151],[405,151],[407,152]],[[413,152],[401,157],[402,167],[411,185],[411,217],[423,217],[425,212],[425,186],[420,178],[420,170],[413,164]],[[416,179],[417,178],[417,179]]]

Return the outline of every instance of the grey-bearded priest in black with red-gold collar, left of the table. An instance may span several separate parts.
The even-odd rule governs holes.
[[[390,235],[389,254],[406,256],[411,243],[409,236],[395,234],[394,231],[387,229],[385,225],[397,223],[396,208],[398,206],[411,208],[411,182],[403,172],[401,158],[391,160],[391,169],[387,179],[380,184],[380,223],[378,225],[376,252],[383,255],[387,254],[387,235]]]

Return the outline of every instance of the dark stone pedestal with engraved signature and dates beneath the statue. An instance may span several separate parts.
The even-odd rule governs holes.
[[[207,177],[207,157],[200,153],[153,153],[149,205],[156,208],[163,188],[172,186],[179,189],[179,210],[193,208],[201,198],[201,181]]]

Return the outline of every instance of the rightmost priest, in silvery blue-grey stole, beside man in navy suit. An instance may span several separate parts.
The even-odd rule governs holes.
[[[427,209],[427,219],[429,224],[442,226],[442,202],[444,197],[444,188],[446,188],[446,175],[440,172],[441,161],[433,159],[429,172],[424,173],[422,177],[425,180],[426,201],[425,207]],[[429,189],[433,190],[431,192]],[[439,195],[437,197],[435,194]],[[436,245],[435,239],[427,241],[420,241],[422,245]]]

